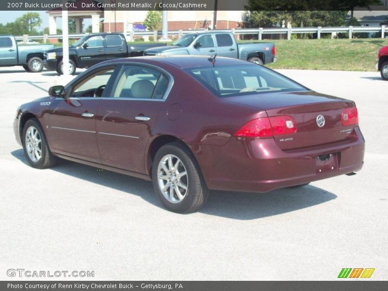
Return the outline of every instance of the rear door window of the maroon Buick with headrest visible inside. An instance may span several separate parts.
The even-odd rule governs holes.
[[[126,65],[113,89],[113,98],[162,99],[168,78],[160,71],[138,65]]]

